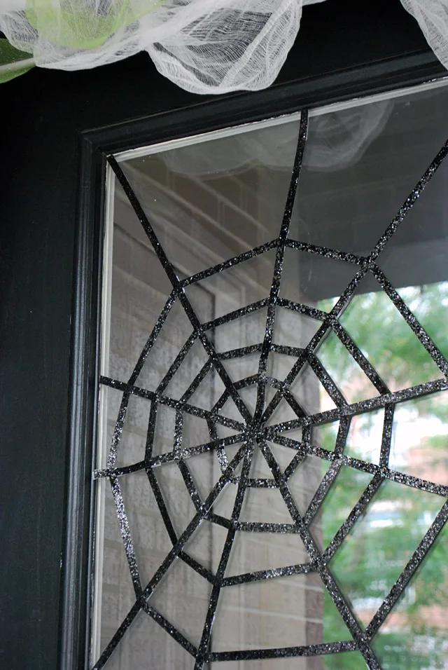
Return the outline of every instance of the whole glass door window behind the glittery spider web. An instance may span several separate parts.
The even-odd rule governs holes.
[[[443,662],[447,106],[111,159],[95,669]]]

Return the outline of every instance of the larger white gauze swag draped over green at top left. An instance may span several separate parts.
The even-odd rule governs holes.
[[[90,68],[146,50],[182,88],[227,93],[269,86],[302,6],[319,1],[0,0],[0,29],[41,67]]]

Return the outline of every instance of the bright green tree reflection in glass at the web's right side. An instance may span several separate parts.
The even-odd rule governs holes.
[[[448,329],[443,310],[448,304],[448,282],[400,289],[400,294],[433,341],[447,355]],[[320,306],[328,309],[331,304],[332,301],[324,301]],[[384,293],[356,296],[341,322],[384,381],[394,389],[442,376],[437,374],[428,353]],[[338,355],[337,340],[332,341],[332,346],[333,355],[327,350],[326,356],[331,360],[332,376],[344,390],[344,383],[350,383],[351,372],[356,374],[356,363],[353,361],[352,369],[347,370],[346,358]],[[361,387],[359,390],[362,393]],[[439,425],[443,422],[446,426],[448,406],[445,400],[442,394],[436,394],[426,397],[424,401],[414,402],[409,409],[417,418],[426,422],[435,421]],[[362,425],[366,437],[371,426],[372,422],[369,425],[369,421],[364,421]],[[334,438],[328,431],[323,435],[322,446],[332,449],[332,440]],[[423,444],[419,444],[419,453],[423,453],[421,458],[426,467],[425,474],[420,476],[436,481],[437,477],[440,478],[440,467],[444,465],[446,468],[447,463],[446,456],[443,457],[447,451],[447,442],[447,435],[442,434],[428,435]],[[356,454],[352,447],[350,455],[365,458],[362,448]],[[428,477],[428,472],[433,477]],[[356,500],[360,486],[358,480],[365,475],[355,470],[351,473],[351,477],[345,478],[344,489],[347,500],[351,500],[351,493]],[[358,519],[355,528],[330,561],[330,568],[363,627],[379,608],[443,503],[444,500],[437,495],[385,481],[367,507],[364,517]],[[346,509],[337,505],[324,505],[322,524],[326,543],[330,542],[335,530],[344,522],[346,512]],[[372,641],[384,670],[432,670],[446,667],[447,549],[448,531],[445,528],[408,585],[405,595]],[[330,596],[325,594],[324,624],[328,636],[339,626],[330,604]],[[346,639],[349,639],[348,631]],[[344,659],[338,655],[325,657],[325,669],[355,670],[359,667],[359,659],[355,655],[353,658],[344,655]]]

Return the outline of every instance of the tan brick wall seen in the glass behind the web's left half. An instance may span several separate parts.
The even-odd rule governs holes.
[[[158,160],[151,170],[146,167],[143,182],[143,192],[151,193],[151,197],[155,196],[154,200],[157,200],[155,221],[160,228],[160,235],[165,236],[162,242],[172,254],[172,261],[182,272],[193,273],[202,269],[201,264],[207,266],[218,262],[220,254],[223,258],[231,257],[232,254],[265,242],[278,234],[288,177],[286,172],[269,172],[259,168],[225,179],[214,179],[211,183],[201,182],[198,178],[174,174],[167,170],[162,160]],[[150,207],[150,201],[148,196],[147,208]],[[169,209],[170,202],[174,203],[172,210]],[[163,217],[169,219],[169,225],[162,225],[161,212]],[[178,215],[177,219],[175,214]],[[179,235],[173,232],[176,230],[176,221]],[[127,378],[162,310],[169,286],[160,273],[157,259],[148,248],[144,235],[142,236],[138,222],[131,210],[120,202],[116,206],[115,230],[109,374]],[[181,240],[184,239],[190,240],[188,244],[182,244]],[[204,251],[205,245],[196,246],[197,239],[199,242],[207,240],[208,251]],[[215,242],[211,243],[210,240]],[[274,252],[269,252],[248,264],[215,275],[201,282],[200,286],[191,287],[188,296],[200,313],[200,318],[207,321],[267,296],[272,280],[273,261]],[[216,328],[211,333],[216,350],[225,351],[262,341],[265,317],[265,310],[260,310],[259,313],[244,317],[238,322]],[[298,322],[296,315],[284,310],[277,319],[277,341],[288,342],[288,338],[294,334],[295,338],[298,337],[306,343],[311,338],[313,329],[314,324],[307,320]],[[155,388],[190,332],[190,324],[182,310],[173,309],[137,385]],[[300,346],[295,342],[293,344]],[[207,360],[200,349],[200,346],[195,346],[186,357],[179,378],[165,391],[167,395],[180,397],[188,383],[193,380]],[[269,374],[284,378],[292,364],[290,357],[271,355]],[[228,371],[233,381],[255,374],[257,369],[257,355],[228,362]],[[212,406],[221,395],[222,389],[218,376],[210,373],[191,402],[208,403]],[[300,402],[305,406],[318,407],[319,392],[316,383],[307,381],[302,384],[300,392]],[[107,395],[105,448],[108,449],[121,394],[115,390],[107,390],[104,395]],[[241,391],[241,395],[249,408],[253,409],[256,388],[246,388]],[[147,400],[132,398],[117,465],[126,465],[143,458],[149,409],[150,402]],[[223,413],[226,412],[233,416],[229,406],[224,406]],[[235,418],[241,417],[237,415]],[[291,418],[290,408],[280,404],[272,421],[277,423],[287,418]],[[172,449],[174,419],[174,411],[159,408],[154,453]],[[205,421],[191,417],[188,421],[186,420],[183,427],[184,443],[188,442],[187,446],[191,446],[207,442],[209,434]],[[220,428],[221,430],[224,435],[225,429]],[[288,460],[294,456],[293,451],[288,453],[286,448],[280,446],[272,445],[272,449],[281,467],[286,467]],[[235,453],[235,448],[229,449],[230,456],[232,453]],[[199,458],[190,459],[188,464],[198,491],[205,497],[220,476],[216,455],[206,453]],[[260,472],[256,471],[257,467]],[[253,468],[255,470],[251,476],[269,477],[262,458],[254,461]],[[195,514],[194,505],[176,465],[163,466],[155,472],[165,504],[172,515],[175,531],[179,535]],[[321,477],[320,462],[309,458],[291,479],[290,488],[302,512],[306,509],[312,493],[316,491]],[[146,475],[139,473],[123,477],[120,484],[141,579],[146,583],[169,552],[171,543]],[[230,513],[235,491],[236,486],[229,484],[223,492],[223,499],[217,501],[214,511],[220,514]],[[103,495],[104,563],[100,615],[102,648],[113,636],[134,599],[111,493],[107,491]],[[291,523],[279,491],[269,488],[248,490],[241,520]],[[225,533],[224,528],[204,521],[186,550],[204,566],[212,571],[216,570]],[[306,561],[307,554],[298,535],[239,531],[226,575]],[[211,584],[178,559],[156,589],[151,603],[188,640],[198,645],[210,594]],[[140,615],[132,624],[108,663],[108,668],[111,666],[115,670],[129,670],[132,667],[133,670],[144,670],[150,666],[148,663],[151,659],[151,670],[193,670],[192,657],[157,624],[146,620],[146,615]],[[226,587],[218,602],[211,648],[225,651],[320,643],[323,641],[322,622],[323,591],[314,575],[293,575]],[[235,670],[249,670],[252,667],[256,670],[287,670],[292,667],[295,670],[321,670],[323,658],[220,663],[219,666],[213,664],[215,666],[220,669],[232,666]]]

